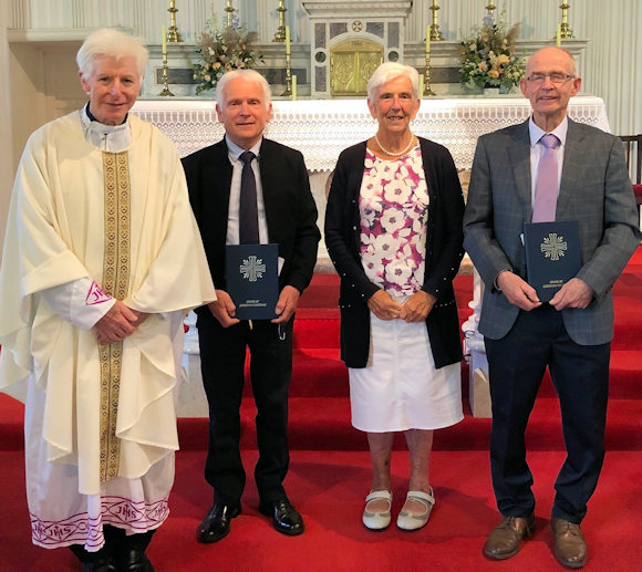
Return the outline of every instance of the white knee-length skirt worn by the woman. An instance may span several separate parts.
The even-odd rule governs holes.
[[[464,418],[458,363],[435,368],[425,322],[370,314],[366,367],[350,367],[352,425],[362,431],[438,429]]]

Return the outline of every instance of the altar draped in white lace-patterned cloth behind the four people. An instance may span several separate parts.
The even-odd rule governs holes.
[[[186,156],[224,136],[213,100],[156,98],[138,100],[133,113],[153,123]],[[521,96],[458,97],[423,100],[411,128],[416,135],[445,145],[453,154],[466,194],[477,138],[516,123],[530,115],[530,102]],[[610,131],[604,102],[600,97],[579,95],[569,103],[569,116],[603,131]],[[319,227],[323,228],[325,200],[336,158],[342,149],[367,139],[376,131],[365,100],[275,100],[272,119],[266,136],[299,149],[310,174],[310,186],[319,209]],[[468,268],[470,267],[468,262]],[[323,242],[319,247],[315,271],[332,272]],[[463,326],[465,353],[469,358],[469,401],[476,416],[489,416],[487,362],[484,340],[477,324],[484,284],[474,273],[473,314]],[[200,382],[198,339],[194,315],[187,321],[184,370],[185,379],[178,392],[179,416],[207,415]]]

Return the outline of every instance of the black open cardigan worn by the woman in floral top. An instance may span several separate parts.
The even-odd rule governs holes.
[[[437,302],[426,318],[436,367],[462,360],[462,342],[453,279],[464,256],[464,197],[453,157],[444,146],[420,137],[428,187],[428,229],[423,290]],[[341,278],[341,358],[348,367],[365,367],[370,353],[367,300],[380,288],[361,266],[359,193],[366,143],[339,156],[325,210],[325,245]]]

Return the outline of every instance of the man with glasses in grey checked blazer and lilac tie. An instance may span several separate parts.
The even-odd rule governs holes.
[[[524,435],[548,366],[568,453],[555,485],[551,529],[555,555],[569,568],[587,560],[580,523],[604,457],[611,289],[640,243],[620,141],[567,116],[580,84],[565,50],[551,46],[531,55],[520,87],[532,115],[479,138],[464,216],[464,246],[486,284],[479,331],[493,398],[493,487],[503,516],[484,553],[510,558],[535,530]],[[555,135],[546,138],[550,149],[540,142],[546,134]],[[547,153],[552,155],[546,160],[555,162],[538,170]],[[581,268],[548,303],[526,281],[521,240],[536,188],[540,193],[538,178],[550,179],[552,188],[552,216],[543,220],[579,222]]]

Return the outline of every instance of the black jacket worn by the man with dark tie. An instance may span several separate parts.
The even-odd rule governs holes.
[[[269,241],[279,245],[279,257],[283,258],[279,287],[292,285],[302,292],[312,279],[321,238],[303,155],[263,138],[258,160]],[[226,290],[225,245],[232,166],[225,138],[185,157],[183,167],[214,284]],[[204,309],[196,310],[199,319],[214,320]]]

